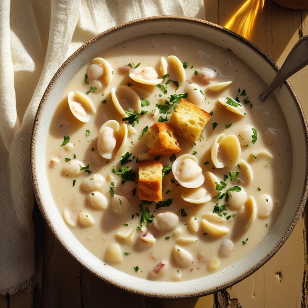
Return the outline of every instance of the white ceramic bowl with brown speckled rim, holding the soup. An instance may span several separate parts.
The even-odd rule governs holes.
[[[45,153],[48,127],[61,93],[87,61],[113,45],[130,38],[157,33],[188,34],[232,52],[270,83],[277,72],[275,63],[252,43],[215,24],[176,16],[144,18],[109,29],[80,47],[59,68],[39,105],[31,144],[31,171],[34,192],[43,217],[66,252],[81,266],[112,286],[154,298],[188,298],[224,289],[252,274],[270,259],[286,241],[302,214],[307,198],[307,124],[298,99],[288,82],[274,93],[286,117],[293,148],[291,184],[275,224],[265,238],[244,258],[214,274],[183,282],[148,281],[122,273],[90,253],[64,223],[47,181]]]

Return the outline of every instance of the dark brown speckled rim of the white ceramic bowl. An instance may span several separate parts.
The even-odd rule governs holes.
[[[106,279],[105,277],[99,275],[98,273],[96,273],[95,271],[91,270],[86,264],[83,263],[83,260],[81,260],[79,258],[78,255],[73,254],[69,248],[65,245],[65,243],[62,241],[61,239],[61,235],[58,234],[55,230],[55,228],[53,227],[53,225],[51,224],[51,221],[49,219],[49,217],[47,216],[47,213],[44,209],[44,205],[42,202],[42,198],[41,198],[41,194],[39,191],[39,186],[38,186],[38,182],[37,182],[37,175],[36,175],[36,168],[35,168],[35,158],[34,158],[34,153],[35,153],[35,143],[36,143],[36,135],[37,135],[37,128],[38,128],[38,123],[40,120],[40,116],[44,107],[44,104],[46,102],[47,96],[49,95],[49,92],[51,91],[51,88],[53,86],[53,84],[55,83],[55,80],[59,77],[59,75],[62,73],[62,71],[66,68],[67,64],[71,62],[72,59],[75,58],[76,55],[78,55],[81,51],[83,51],[85,48],[87,48],[88,45],[95,43],[96,40],[98,40],[99,38],[103,37],[103,36],[107,36],[110,35],[122,28],[128,28],[128,27],[132,27],[136,24],[140,24],[140,23],[155,23],[155,22],[160,22],[160,21],[174,21],[174,22],[185,22],[185,23],[191,23],[191,24],[199,24],[199,25],[203,25],[205,27],[208,28],[214,28],[215,30],[217,30],[218,32],[223,32],[224,34],[227,34],[229,36],[231,36],[233,39],[236,39],[238,41],[240,41],[241,43],[245,44],[246,46],[248,46],[251,49],[252,53],[257,53],[257,55],[261,56],[263,59],[265,59],[265,61],[267,63],[270,64],[271,67],[274,68],[274,70],[278,71],[278,67],[277,65],[274,63],[274,61],[272,59],[270,59],[263,51],[261,51],[258,47],[256,47],[255,45],[253,45],[253,43],[250,43],[248,40],[244,39],[243,37],[241,37],[240,35],[225,29],[221,26],[218,26],[216,24],[213,24],[211,22],[207,22],[207,21],[203,21],[203,20],[199,20],[199,19],[195,19],[195,18],[186,18],[186,17],[179,17],[179,16],[155,16],[155,17],[148,17],[148,18],[142,18],[142,19],[138,19],[138,20],[134,20],[131,22],[126,22],[124,24],[121,24],[119,26],[115,26],[109,30],[106,30],[100,34],[98,34],[97,36],[95,36],[95,38],[91,39],[90,41],[88,41],[87,43],[85,43],[83,46],[81,46],[77,51],[75,51],[63,64],[62,66],[59,68],[59,70],[55,73],[54,77],[51,79],[51,82],[49,83],[43,98],[39,104],[38,107],[38,111],[36,113],[35,116],[35,120],[34,120],[34,126],[33,126],[33,132],[32,132],[32,139],[31,139],[31,150],[30,150],[30,167],[31,167],[31,174],[32,174],[32,181],[33,181],[33,188],[34,188],[34,193],[35,193],[35,197],[36,200],[38,202],[39,205],[39,209],[41,210],[41,213],[46,221],[46,224],[48,225],[48,227],[50,228],[52,234],[55,236],[56,240],[59,242],[59,244],[63,247],[63,249],[73,258],[73,260],[75,260],[80,266],[82,266],[83,268],[85,268],[88,272],[90,272],[91,274],[93,274],[95,277],[103,280],[104,282],[109,283],[111,286],[114,286],[116,288],[119,288],[120,290],[126,291],[126,292],[130,292],[136,295],[140,295],[140,296],[145,296],[145,297],[151,297],[151,298],[164,298],[164,299],[181,299],[181,298],[192,298],[192,297],[198,297],[198,296],[204,296],[204,295],[208,295],[208,294],[212,294],[214,292],[217,292],[219,290],[223,290],[229,286],[234,285],[237,282],[240,282],[241,280],[243,280],[244,278],[246,278],[247,276],[253,274],[253,272],[255,272],[258,268],[260,268],[266,261],[268,261],[271,257],[274,256],[274,254],[278,251],[278,249],[280,249],[280,247],[283,245],[283,243],[286,241],[286,239],[290,236],[292,230],[294,229],[294,226],[296,225],[297,221],[299,220],[299,218],[302,215],[305,203],[306,203],[306,199],[307,199],[307,183],[308,183],[308,170],[307,170],[307,166],[308,166],[308,155],[307,155],[307,144],[308,144],[308,139],[307,139],[307,123],[306,123],[306,119],[305,119],[305,115],[304,112],[302,110],[302,107],[298,101],[297,95],[295,94],[293,88],[290,86],[290,83],[288,81],[285,82],[285,85],[287,87],[287,89],[289,90],[294,104],[297,107],[298,110],[298,114],[301,118],[301,124],[302,124],[302,129],[304,132],[304,136],[305,136],[305,143],[306,143],[306,177],[305,177],[305,183],[304,183],[304,188],[303,188],[303,192],[302,192],[302,196],[301,196],[301,200],[298,206],[298,209],[294,215],[293,220],[291,221],[290,225],[288,226],[286,233],[281,237],[281,239],[278,241],[278,243],[275,245],[275,247],[270,251],[270,253],[268,253],[260,262],[258,262],[257,264],[255,264],[254,266],[252,266],[249,270],[247,270],[244,274],[239,275],[237,278],[230,280],[229,282],[225,283],[225,284],[221,284],[220,286],[216,287],[216,288],[211,288],[211,289],[207,289],[201,292],[197,292],[197,293],[181,293],[181,294],[176,294],[176,295],[162,295],[162,294],[158,294],[158,293],[152,293],[152,292],[141,292],[139,290],[132,288],[127,288],[124,286],[121,286],[109,279]]]

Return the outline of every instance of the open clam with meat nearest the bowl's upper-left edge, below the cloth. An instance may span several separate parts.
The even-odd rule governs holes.
[[[105,59],[95,58],[87,69],[87,76],[91,84],[100,90],[111,83],[112,67]]]

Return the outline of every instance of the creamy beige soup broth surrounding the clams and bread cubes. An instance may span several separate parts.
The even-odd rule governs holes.
[[[172,72],[169,77],[164,79],[161,84],[167,87],[168,93],[165,95],[159,87],[133,81],[128,76],[128,71],[121,69],[128,63],[131,63],[132,67],[141,63],[140,67],[151,66],[155,68],[159,75],[158,78],[160,78],[161,75],[157,69],[158,63],[162,56],[167,59],[169,55],[177,56],[182,63],[187,62],[187,68],[184,70],[186,73],[185,81],[179,84],[180,87],[177,90],[177,86],[173,82],[165,85],[168,79],[172,79]],[[214,270],[221,270],[245,256],[261,241],[278,217],[288,193],[290,179],[287,175],[291,172],[292,162],[292,148],[286,121],[273,96],[269,97],[264,103],[259,99],[260,93],[265,88],[265,84],[260,80],[260,77],[247,64],[234,57],[231,51],[191,36],[164,34],[138,37],[112,47],[103,52],[100,57],[106,59],[113,69],[111,83],[102,90],[90,91],[91,81],[89,84],[85,83],[85,74],[89,64],[85,65],[72,78],[62,94],[61,101],[55,102],[59,105],[49,128],[46,156],[49,185],[59,212],[62,215],[66,210],[71,221],[75,224],[75,226],[68,225],[70,231],[91,253],[102,260],[101,266],[111,265],[127,274],[145,279],[153,279],[150,274],[151,269],[161,261],[168,262],[168,270],[166,270],[165,275],[156,279],[179,281],[208,275],[213,273]],[[217,78],[221,77],[221,81],[229,80],[233,82],[221,91],[207,90],[208,85],[217,83],[218,79],[213,79],[210,83],[202,82],[200,76],[198,77],[199,73],[196,75],[195,71],[198,72],[205,66],[214,67],[218,72]],[[245,228],[245,226],[249,220],[249,209],[245,209],[245,207],[234,209],[227,205],[225,198],[213,198],[219,191],[211,195],[212,198],[209,202],[203,204],[188,203],[181,198],[183,187],[178,185],[172,172],[169,172],[163,177],[163,199],[164,201],[172,199],[172,204],[168,207],[156,209],[156,202],[152,202],[152,204],[144,204],[143,208],[145,209],[148,206],[154,220],[159,213],[175,213],[179,216],[179,223],[169,231],[159,231],[154,227],[153,222],[149,228],[146,227],[146,224],[143,224],[142,228],[136,229],[140,226],[141,211],[139,205],[142,204],[138,200],[138,163],[136,159],[144,160],[156,157],[147,153],[146,139],[138,140],[138,138],[143,129],[157,122],[160,116],[170,118],[170,114],[160,114],[156,104],[164,105],[165,99],[172,94],[184,94],[185,87],[189,82],[196,83],[203,93],[203,95],[201,94],[201,102],[191,102],[207,112],[212,111],[213,115],[206,124],[201,138],[195,144],[183,137],[178,137],[181,151],[176,153],[175,156],[194,153],[203,174],[210,171],[220,181],[223,181],[224,176],[229,175],[229,172],[240,172],[239,176],[232,182],[230,177],[225,180],[225,183],[227,183],[226,189],[234,185],[241,187],[245,190],[247,197],[254,197],[258,211],[264,210],[264,203],[268,202],[264,199],[268,198],[262,197],[262,195],[268,194],[273,202],[270,215],[265,218],[257,215],[248,228]],[[122,185],[121,176],[112,172],[113,166],[115,168],[121,167],[121,156],[117,159],[104,159],[99,155],[97,141],[99,129],[107,120],[117,120],[120,125],[128,123],[122,121],[123,116],[116,111],[111,99],[112,87],[117,89],[120,85],[128,85],[128,83],[131,84],[130,86],[140,96],[140,99],[146,99],[150,104],[142,107],[148,113],[140,115],[140,122],[134,127],[136,133],[132,134],[128,131],[127,145],[121,155],[123,156],[126,152],[132,153],[130,157],[132,161],[125,166],[136,172],[136,180],[128,180]],[[89,122],[80,122],[72,115],[67,101],[67,95],[70,91],[82,93],[90,91],[87,96],[91,99],[96,114],[89,113]],[[233,99],[238,97],[244,108],[245,116],[236,115],[218,102],[219,98],[225,99],[226,97]],[[173,111],[172,108],[170,108],[170,111]],[[247,144],[243,144],[247,138],[242,138],[239,135],[248,125],[257,131],[257,140],[252,143],[249,139]],[[249,164],[253,172],[253,179],[249,185],[242,180],[238,183],[241,174],[245,176],[244,167],[215,168],[211,159],[211,147],[214,139],[221,133],[226,136],[234,134],[238,137],[241,143],[241,159]],[[64,136],[69,136],[70,142],[61,146]],[[248,134],[248,137],[251,136]],[[266,157],[264,152],[263,154],[259,152],[254,158],[252,153],[263,150],[270,152],[273,158]],[[87,170],[91,173],[83,170],[79,176],[63,175],[63,168],[69,163],[65,158],[71,159],[70,162],[72,162],[74,157],[75,160],[82,162],[83,166],[89,164]],[[172,165],[170,157],[171,155],[161,156],[158,161],[164,167]],[[87,200],[90,192],[85,191],[81,185],[84,178],[94,174],[100,174],[106,181],[103,187],[99,189],[107,199],[107,209],[104,210],[95,209],[90,205]],[[111,182],[114,183],[114,193],[126,197],[129,201],[128,211],[122,215],[116,214],[112,210],[112,198],[114,197],[111,197],[109,193]],[[134,189],[136,189],[136,194],[133,196]],[[218,206],[226,205],[225,210],[220,213],[223,217],[231,216],[224,223],[224,226],[229,228],[229,232],[224,236],[207,234],[200,225],[202,215],[212,213],[217,203]],[[93,218],[94,224],[88,227],[81,225],[78,220],[80,211],[87,212]],[[184,216],[181,216],[181,214]],[[215,213],[215,215],[219,217],[218,213]],[[191,229],[193,219],[196,219],[195,221],[199,224],[197,232]],[[125,233],[130,230],[134,230],[130,244],[125,243],[115,235],[117,232]],[[143,249],[140,247],[139,237],[147,232],[150,232],[156,238],[156,243]],[[189,242],[185,238],[193,238],[193,240]],[[181,242],[181,239],[184,240]],[[232,251],[230,241],[226,240],[232,241]],[[107,248],[113,243],[120,246],[123,254],[120,263],[112,263],[105,256]],[[189,265],[181,266],[176,261],[174,257],[175,245],[191,255],[193,261]],[[136,271],[137,266],[138,271]]]

